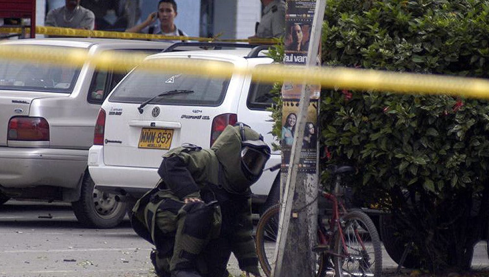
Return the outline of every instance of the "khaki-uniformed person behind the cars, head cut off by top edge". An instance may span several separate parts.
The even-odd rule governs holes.
[[[261,0],[263,15],[257,23],[256,34],[251,38],[279,38],[285,33],[285,2],[284,0]]]

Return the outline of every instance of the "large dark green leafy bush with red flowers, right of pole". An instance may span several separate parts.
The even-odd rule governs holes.
[[[322,59],[487,78],[488,34],[488,1],[328,0]],[[328,163],[354,165],[356,190],[387,199],[376,204],[424,268],[470,267],[489,217],[486,101],[324,90],[320,123]]]

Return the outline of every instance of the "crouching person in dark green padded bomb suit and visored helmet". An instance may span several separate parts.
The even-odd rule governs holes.
[[[163,156],[160,182],[131,218],[136,233],[156,246],[158,276],[228,277],[231,253],[241,270],[260,276],[250,186],[269,157],[263,137],[243,123],[226,127],[211,149],[187,144]]]

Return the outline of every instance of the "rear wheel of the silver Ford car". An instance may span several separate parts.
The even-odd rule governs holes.
[[[113,228],[122,221],[127,211],[127,204],[116,201],[115,196],[97,190],[87,170],[83,176],[80,199],[71,202],[71,207],[81,224],[92,228]]]

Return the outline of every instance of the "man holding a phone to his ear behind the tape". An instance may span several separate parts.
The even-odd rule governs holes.
[[[175,0],[160,0],[158,11],[149,14],[148,18],[140,24],[126,29],[129,33],[145,33],[164,35],[171,37],[187,37],[188,35],[177,28],[175,17],[177,17],[177,3]],[[162,42],[180,42],[181,40],[156,40]]]

